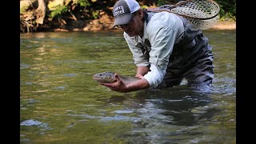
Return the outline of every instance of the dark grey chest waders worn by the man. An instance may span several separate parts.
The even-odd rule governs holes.
[[[146,21],[150,22],[154,14],[147,13]],[[178,17],[182,19],[184,34],[182,40],[174,45],[166,75],[158,87],[178,86],[186,78],[187,86],[197,90],[210,90],[214,78],[212,47],[202,30],[195,29],[186,18]]]

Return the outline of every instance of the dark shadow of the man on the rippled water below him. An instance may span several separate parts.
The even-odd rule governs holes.
[[[178,126],[197,125],[198,120],[218,112],[215,108],[202,109],[212,102],[209,93],[190,90],[141,90],[132,98],[113,95],[108,102],[126,103],[145,118],[162,119],[160,122]]]

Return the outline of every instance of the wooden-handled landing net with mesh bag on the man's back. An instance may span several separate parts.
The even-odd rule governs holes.
[[[206,30],[214,26],[219,19],[218,3],[212,0],[186,0],[175,5],[163,5],[150,11],[168,11],[188,19],[194,27]]]

